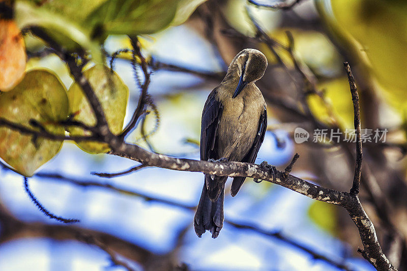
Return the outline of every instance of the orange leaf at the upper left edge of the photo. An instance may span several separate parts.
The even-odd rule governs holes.
[[[0,91],[10,91],[21,81],[26,62],[20,29],[13,20],[0,20]]]

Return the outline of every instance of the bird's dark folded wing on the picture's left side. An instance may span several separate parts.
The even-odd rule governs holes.
[[[208,100],[203,107],[202,123],[200,132],[200,160],[219,159],[215,147],[216,134],[222,115],[223,106],[216,97],[216,88],[208,96]]]

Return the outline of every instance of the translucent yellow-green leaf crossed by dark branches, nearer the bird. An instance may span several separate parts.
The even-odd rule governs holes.
[[[102,65],[97,65],[86,70],[84,75],[88,78],[93,91],[99,98],[110,130],[114,134],[121,133],[126,115],[129,89],[116,73],[111,73],[107,67]],[[68,99],[70,112],[74,115],[73,119],[75,121],[80,121],[90,126],[96,124],[93,110],[83,95],[82,89],[76,82],[69,88]],[[70,133],[72,136],[90,135],[89,131],[83,131],[80,128],[71,128]],[[109,146],[105,143],[78,142],[76,144],[82,150],[91,154],[106,153],[109,150]]]

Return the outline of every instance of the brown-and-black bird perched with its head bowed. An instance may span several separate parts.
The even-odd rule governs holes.
[[[266,102],[255,81],[263,77],[267,58],[256,49],[244,49],[232,59],[226,76],[203,107],[200,160],[254,163],[267,129]],[[223,200],[227,176],[205,174],[194,217],[195,233],[209,230],[212,238],[223,227]],[[236,196],[245,177],[234,177],[230,193]]]

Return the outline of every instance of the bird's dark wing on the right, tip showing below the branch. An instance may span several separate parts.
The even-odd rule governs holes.
[[[263,113],[260,115],[258,122],[257,134],[254,138],[253,145],[251,146],[247,155],[242,159],[241,162],[254,163],[257,157],[258,150],[260,149],[261,143],[263,143],[264,136],[267,130],[267,109],[264,107]],[[240,187],[243,185],[246,177],[234,177],[232,182],[232,187],[230,194],[232,197],[236,196],[239,192]]]

